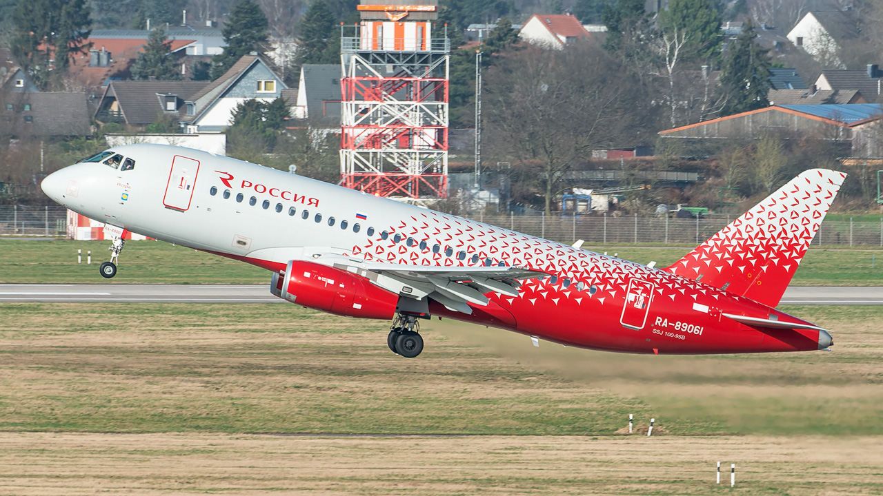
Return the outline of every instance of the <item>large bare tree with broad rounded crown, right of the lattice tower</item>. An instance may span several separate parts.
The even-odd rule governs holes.
[[[592,150],[635,145],[653,109],[621,64],[592,43],[528,48],[487,73],[486,136],[500,160],[540,184],[547,214],[565,174]]]

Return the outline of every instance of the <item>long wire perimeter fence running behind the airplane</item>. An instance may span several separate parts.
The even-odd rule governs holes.
[[[638,215],[472,215],[472,219],[531,236],[571,244],[699,244],[723,229],[732,218],[706,215],[694,219]],[[64,207],[0,206],[0,236],[67,234]],[[883,247],[883,217],[879,222],[825,221],[813,245]]]

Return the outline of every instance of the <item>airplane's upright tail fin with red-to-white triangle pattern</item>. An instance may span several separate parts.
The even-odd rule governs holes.
[[[666,270],[779,304],[845,178],[836,170],[805,171]]]

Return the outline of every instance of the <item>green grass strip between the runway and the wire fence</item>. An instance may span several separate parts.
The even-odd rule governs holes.
[[[0,283],[268,283],[269,274],[242,262],[194,252],[183,246],[155,241],[126,244],[117,276],[112,280],[98,274],[98,265],[109,259],[104,241],[0,239]],[[586,246],[595,252],[617,253],[620,258],[646,264],[656,261],[667,267],[692,247],[604,247]],[[77,264],[77,250],[83,263]],[[86,264],[87,252],[93,264]],[[883,251],[811,249],[792,282],[803,286],[883,285]]]

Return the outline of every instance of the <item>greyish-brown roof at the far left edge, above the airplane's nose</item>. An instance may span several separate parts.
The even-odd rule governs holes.
[[[0,109],[14,129],[34,136],[87,136],[92,128],[85,93],[17,93],[5,101],[13,110]],[[29,109],[25,109],[25,105]],[[30,116],[31,122],[25,117]]]

